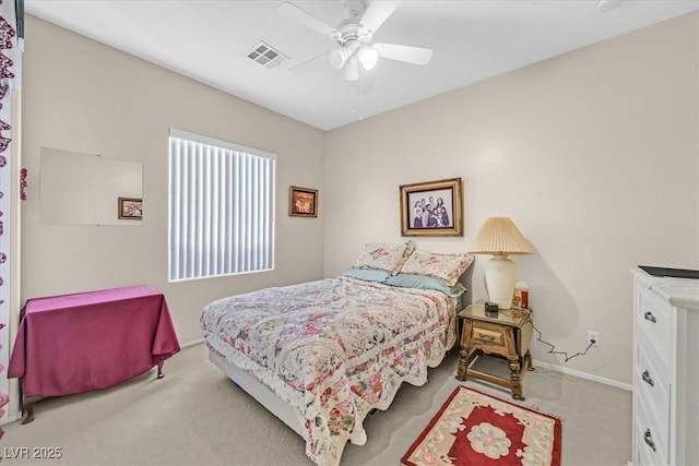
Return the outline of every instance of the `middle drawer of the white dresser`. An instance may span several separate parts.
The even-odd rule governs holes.
[[[667,371],[653,356],[654,348],[636,340],[633,390],[647,413],[657,418],[662,432],[670,430],[670,382]]]

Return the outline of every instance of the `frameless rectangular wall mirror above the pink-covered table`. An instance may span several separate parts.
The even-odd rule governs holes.
[[[143,166],[42,147],[43,224],[142,225]]]

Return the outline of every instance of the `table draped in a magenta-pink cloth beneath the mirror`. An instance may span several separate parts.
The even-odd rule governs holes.
[[[180,350],[165,296],[144,285],[27,300],[10,358],[31,397],[106,389],[140,375]]]

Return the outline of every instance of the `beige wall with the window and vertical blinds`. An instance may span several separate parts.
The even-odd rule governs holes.
[[[322,276],[323,216],[287,216],[289,184],[318,188],[322,196],[322,131],[33,16],[26,19],[23,96],[22,164],[29,178],[22,204],[22,301],[150,284],[165,292],[187,343],[201,338],[201,309],[215,298]],[[279,154],[273,272],[168,284],[170,127]],[[142,163],[143,225],[42,224],[40,147]]]

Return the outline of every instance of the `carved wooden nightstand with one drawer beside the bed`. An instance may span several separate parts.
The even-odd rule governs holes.
[[[522,396],[522,378],[532,366],[529,344],[532,339],[531,311],[502,309],[497,314],[487,313],[485,304],[471,304],[458,314],[461,321],[461,358],[457,379],[467,375],[486,380],[512,391],[514,399]],[[506,358],[510,366],[510,378],[503,379],[471,368],[481,355],[496,355]]]

